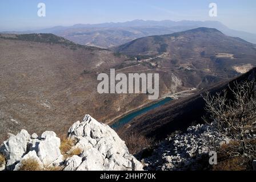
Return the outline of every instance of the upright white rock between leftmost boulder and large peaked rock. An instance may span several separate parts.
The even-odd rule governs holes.
[[[45,140],[39,142],[37,155],[43,165],[47,167],[61,156],[61,150],[59,150],[61,139],[56,137],[53,131],[43,133],[42,138]]]

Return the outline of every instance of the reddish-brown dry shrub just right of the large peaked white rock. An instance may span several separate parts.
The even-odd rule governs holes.
[[[153,144],[153,139],[147,138],[138,133],[122,134],[118,133],[119,137],[125,140],[125,144],[129,149],[129,152],[133,155],[138,154],[145,148],[150,147]]]

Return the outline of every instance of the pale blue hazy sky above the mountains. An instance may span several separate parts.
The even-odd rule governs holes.
[[[46,5],[39,18],[37,5]],[[218,16],[209,16],[209,4]],[[127,20],[218,20],[235,30],[256,34],[255,0],[0,0],[0,31],[30,30],[78,23]]]

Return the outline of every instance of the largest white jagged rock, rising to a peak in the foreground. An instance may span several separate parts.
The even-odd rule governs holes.
[[[70,127],[69,137],[77,138],[77,146],[85,151],[82,154],[85,161],[78,170],[142,170],[142,164],[129,154],[117,133],[90,115]]]

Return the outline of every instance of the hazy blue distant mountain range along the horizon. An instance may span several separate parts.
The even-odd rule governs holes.
[[[248,42],[256,43],[256,34],[231,30],[217,21],[133,20],[123,23],[75,24],[69,27],[57,26],[42,30],[5,33],[51,33],[81,45],[110,48],[145,36],[171,34],[198,27],[216,28],[227,36],[239,37]]]

